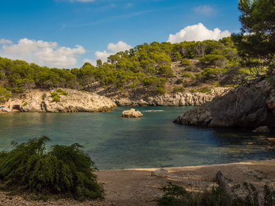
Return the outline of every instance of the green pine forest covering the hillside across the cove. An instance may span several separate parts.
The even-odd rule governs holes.
[[[39,87],[86,91],[102,87],[108,91],[139,90],[157,95],[166,93],[167,81],[179,85],[175,92],[211,79],[219,80],[220,84],[232,84],[232,78],[221,78],[221,75],[240,69],[240,60],[230,37],[219,41],[144,43],[109,56],[107,62],[96,60],[96,66],[86,62],[79,69],[40,67],[0,57],[0,86],[1,91],[7,93]],[[196,64],[191,65],[191,61]],[[181,76],[175,76],[171,68],[173,62],[184,67]],[[191,84],[187,83],[188,78]]]

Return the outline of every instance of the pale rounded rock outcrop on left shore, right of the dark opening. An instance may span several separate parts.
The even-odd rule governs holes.
[[[44,100],[34,98],[27,105],[22,106],[21,110],[25,112],[107,112],[116,107],[116,104],[109,98],[95,95],[92,93],[83,93],[72,89],[64,89],[68,95],[59,95],[60,102],[55,102],[52,96]]]

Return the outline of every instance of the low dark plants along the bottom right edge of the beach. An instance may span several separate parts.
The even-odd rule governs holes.
[[[245,190],[247,192],[245,198],[234,198],[233,200],[226,196],[225,192],[219,187],[212,187],[212,190],[203,190],[203,192],[195,193],[188,192],[184,187],[173,185],[168,183],[167,186],[161,187],[161,190],[165,194],[157,198],[157,205],[159,206],[195,206],[195,205],[204,205],[204,206],[257,206],[260,205],[260,202],[263,202],[264,205],[274,205],[274,196],[275,191],[269,185],[264,186],[264,198],[263,200],[259,199],[259,193],[252,184],[243,183]]]

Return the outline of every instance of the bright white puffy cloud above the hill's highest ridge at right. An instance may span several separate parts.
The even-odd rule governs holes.
[[[181,41],[203,41],[208,39],[219,40],[223,37],[230,36],[230,32],[225,30],[221,32],[218,28],[208,30],[202,23],[197,25],[189,25],[183,30],[180,30],[175,35],[170,34],[168,42],[170,43],[179,43]]]

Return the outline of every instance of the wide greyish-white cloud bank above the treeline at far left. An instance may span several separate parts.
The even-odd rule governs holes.
[[[28,38],[22,38],[17,44],[7,40],[1,40],[1,43],[5,43],[0,50],[3,57],[57,68],[74,67],[77,55],[85,53],[85,49],[80,45],[76,45],[75,48],[58,47],[56,42],[35,41]]]

